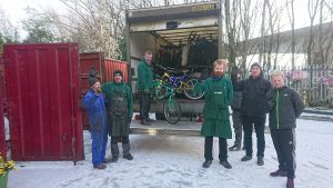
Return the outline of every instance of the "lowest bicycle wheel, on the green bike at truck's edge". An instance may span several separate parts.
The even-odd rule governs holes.
[[[181,107],[173,97],[165,100],[163,110],[169,123],[176,123],[180,120]]]

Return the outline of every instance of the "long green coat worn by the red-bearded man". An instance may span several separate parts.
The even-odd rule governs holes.
[[[195,92],[204,91],[202,136],[232,138],[229,107],[233,88],[229,78],[209,78],[195,85]]]

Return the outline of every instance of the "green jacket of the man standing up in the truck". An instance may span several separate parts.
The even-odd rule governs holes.
[[[138,66],[138,85],[139,91],[153,88],[153,72],[151,66],[149,66],[144,59]]]

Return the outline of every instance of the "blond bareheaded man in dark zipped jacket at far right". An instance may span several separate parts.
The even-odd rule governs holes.
[[[300,95],[284,86],[281,71],[272,73],[273,98],[270,111],[270,130],[278,155],[279,169],[271,172],[272,177],[287,177],[286,188],[294,188],[295,178],[295,128],[296,118],[304,109]]]

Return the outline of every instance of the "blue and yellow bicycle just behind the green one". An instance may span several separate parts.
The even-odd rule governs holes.
[[[201,99],[204,92],[195,95],[194,85],[199,81],[198,79],[191,78],[191,71],[175,71],[172,68],[165,68],[163,66],[157,66],[161,68],[164,73],[161,77],[161,81],[174,88],[178,93],[184,93],[186,98],[195,100]],[[175,76],[180,75],[180,76]]]

